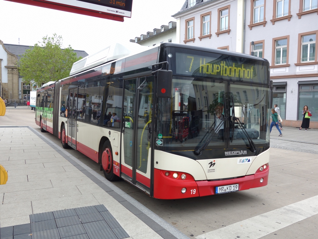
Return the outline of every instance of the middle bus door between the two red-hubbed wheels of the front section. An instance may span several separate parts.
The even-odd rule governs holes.
[[[68,118],[68,145],[76,149],[76,119],[77,119],[77,91],[78,88],[73,88],[69,90],[69,110],[67,113]]]

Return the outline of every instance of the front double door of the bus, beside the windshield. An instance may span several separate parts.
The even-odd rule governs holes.
[[[138,89],[140,84],[146,85]],[[121,171],[133,184],[150,194],[151,122],[154,77],[144,76],[125,81],[124,91],[124,160]],[[146,112],[146,116],[144,116]],[[130,168],[130,167],[129,167]]]

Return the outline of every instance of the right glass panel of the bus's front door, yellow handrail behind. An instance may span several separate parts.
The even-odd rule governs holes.
[[[141,77],[142,83],[145,77]],[[137,128],[137,170],[147,173],[148,154],[151,142],[152,104],[154,77],[147,76],[147,86],[139,91],[138,128]],[[150,162],[149,162],[150,163]]]

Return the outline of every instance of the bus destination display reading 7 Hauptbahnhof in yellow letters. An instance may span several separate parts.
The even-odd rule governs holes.
[[[206,57],[176,53],[176,73],[192,77],[216,77],[237,81],[263,83],[266,67],[257,61],[218,55]]]

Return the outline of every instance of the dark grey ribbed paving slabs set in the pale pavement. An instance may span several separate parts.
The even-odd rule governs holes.
[[[31,223],[4,227],[1,239],[123,239],[129,237],[104,205],[30,215]]]

